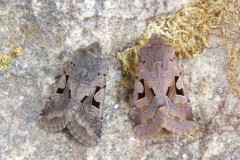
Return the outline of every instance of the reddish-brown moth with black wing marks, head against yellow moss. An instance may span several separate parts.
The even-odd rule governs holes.
[[[197,125],[179,71],[175,52],[158,34],[139,49],[134,88],[134,134],[152,137],[163,128],[178,135],[192,134]]]

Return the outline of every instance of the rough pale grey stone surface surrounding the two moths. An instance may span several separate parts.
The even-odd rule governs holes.
[[[173,0],[0,0],[0,52],[23,46],[13,67],[0,71],[0,159],[240,159],[240,100],[226,85],[226,48],[216,35],[204,54],[179,62],[200,127],[186,138],[163,133],[134,138],[132,94],[117,99],[121,78],[117,51],[130,47],[149,19],[175,12]],[[110,59],[101,143],[86,148],[63,133],[47,133],[36,120],[54,77],[73,51],[98,41]]]

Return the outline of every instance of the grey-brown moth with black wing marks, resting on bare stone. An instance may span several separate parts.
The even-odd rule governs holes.
[[[39,128],[51,132],[67,128],[78,142],[98,144],[106,86],[106,61],[100,55],[100,45],[93,43],[64,63],[64,73],[40,114]]]

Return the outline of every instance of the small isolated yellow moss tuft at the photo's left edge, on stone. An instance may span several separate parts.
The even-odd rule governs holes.
[[[23,55],[24,49],[18,47],[5,55],[0,55],[0,70],[11,67],[11,61],[13,58]]]

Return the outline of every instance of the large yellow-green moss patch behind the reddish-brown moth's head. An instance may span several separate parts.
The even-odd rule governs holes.
[[[133,83],[137,51],[154,32],[163,36],[174,47],[179,58],[194,57],[201,53],[207,46],[213,29],[221,31],[224,46],[231,44],[233,48],[236,47],[240,35],[239,8],[239,0],[192,0],[179,12],[152,20],[137,45],[117,55],[118,59],[125,61],[123,62],[125,76],[122,83]],[[231,57],[235,57],[236,54],[239,53],[230,51],[229,63],[235,63]],[[134,60],[131,61],[132,59]],[[229,75],[239,74],[236,68],[230,68],[228,72]],[[233,90],[240,90],[239,85],[229,84]]]

